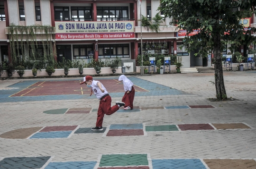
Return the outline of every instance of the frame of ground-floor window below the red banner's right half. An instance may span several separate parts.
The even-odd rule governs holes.
[[[118,54],[118,48],[122,48],[122,54]],[[98,51],[100,51],[100,48],[103,48],[103,54],[100,55],[99,52],[99,59],[103,59],[103,58],[129,58],[130,57],[130,44],[129,43],[123,43],[123,44],[99,44],[98,46]],[[106,51],[106,48],[110,48],[109,50],[111,51],[111,48],[113,48],[113,53],[116,54],[111,54],[111,53],[104,53],[104,51]],[[114,48],[115,48],[115,52],[114,52]],[[124,53],[124,48],[128,48],[128,54]]]

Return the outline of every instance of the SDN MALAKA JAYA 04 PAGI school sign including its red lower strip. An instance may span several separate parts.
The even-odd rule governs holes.
[[[55,22],[56,39],[134,38],[134,21]]]

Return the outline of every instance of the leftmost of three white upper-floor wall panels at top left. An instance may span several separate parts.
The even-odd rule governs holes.
[[[18,22],[19,22],[18,0],[8,0],[8,13],[9,13],[9,23],[18,25]]]

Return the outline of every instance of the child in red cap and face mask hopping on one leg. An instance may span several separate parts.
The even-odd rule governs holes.
[[[93,80],[91,76],[83,77],[83,82],[81,84],[86,84],[87,87],[91,87],[91,93],[93,90],[96,97],[101,100],[98,109],[96,127],[91,128],[91,130],[103,130],[102,122],[104,115],[113,114],[114,112],[119,110],[119,107],[124,106],[125,103],[121,101],[116,101],[116,105],[111,107],[111,97],[107,92],[106,88],[103,84],[101,84],[101,82]]]

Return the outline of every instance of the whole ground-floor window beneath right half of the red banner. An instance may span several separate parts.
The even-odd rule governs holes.
[[[99,44],[99,58],[129,58],[129,44]]]

